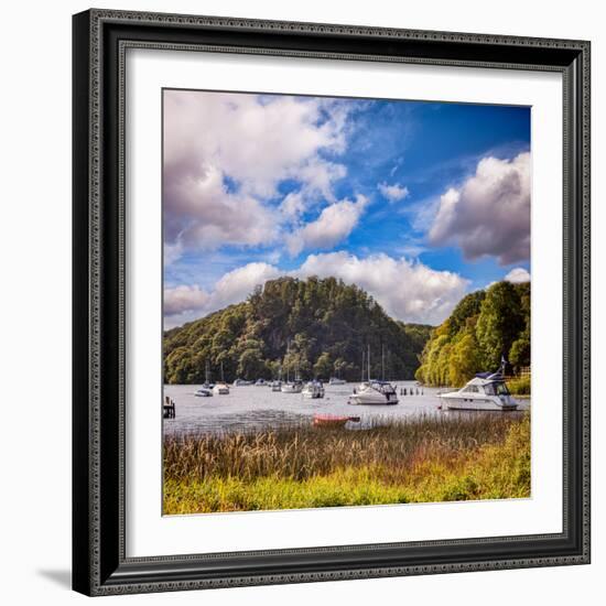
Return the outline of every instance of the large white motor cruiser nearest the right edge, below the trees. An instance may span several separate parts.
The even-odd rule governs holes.
[[[478,372],[465,387],[437,397],[448,410],[516,410],[518,402],[509,393],[504,375],[505,360],[496,372]]]

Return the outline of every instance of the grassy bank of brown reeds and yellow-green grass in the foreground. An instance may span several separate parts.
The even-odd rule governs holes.
[[[444,415],[167,439],[164,473],[165,513],[528,497],[530,423]]]

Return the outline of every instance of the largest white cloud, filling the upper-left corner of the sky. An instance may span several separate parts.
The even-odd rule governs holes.
[[[286,203],[288,213],[296,215],[310,197],[333,201],[333,183],[346,169],[321,152],[343,152],[347,116],[346,106],[331,99],[166,90],[165,244],[271,244],[282,215],[267,201],[284,180],[294,181],[301,196]]]

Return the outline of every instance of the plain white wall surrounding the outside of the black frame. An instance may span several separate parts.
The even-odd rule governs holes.
[[[605,260],[603,202],[606,34],[599,3],[271,2],[270,0],[115,0],[97,7],[321,21],[430,30],[588,39],[593,43],[594,268]],[[85,1],[13,3],[2,8],[0,36],[2,153],[0,279],[0,595],[4,604],[83,602],[71,593],[71,14]],[[600,31],[602,28],[602,31]],[[602,174],[600,174],[602,173]],[[604,279],[594,270],[594,375],[605,358]],[[602,350],[598,350],[599,349]],[[597,380],[594,392],[599,392]],[[264,604],[335,600],[494,605],[597,602],[606,573],[605,532],[597,511],[605,418],[594,407],[594,564],[411,578],[115,598],[129,603]],[[600,465],[602,464],[602,465]],[[602,476],[602,477],[599,477]],[[600,592],[603,593],[603,592]],[[599,595],[599,594],[598,594]]]

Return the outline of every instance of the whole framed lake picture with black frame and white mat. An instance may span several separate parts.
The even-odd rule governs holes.
[[[589,561],[589,43],[74,17],[74,589]]]

